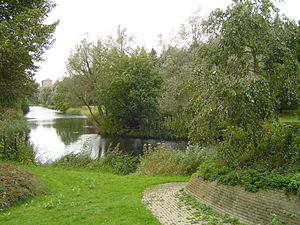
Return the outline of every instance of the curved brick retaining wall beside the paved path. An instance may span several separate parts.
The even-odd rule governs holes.
[[[291,225],[300,224],[300,197],[286,196],[280,190],[251,193],[241,186],[218,185],[194,177],[185,191],[215,211],[245,224],[267,224],[274,214]]]

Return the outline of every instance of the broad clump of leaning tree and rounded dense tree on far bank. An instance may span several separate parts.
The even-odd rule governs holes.
[[[83,40],[67,66],[69,91],[98,107],[100,119],[90,112],[103,133],[145,129],[158,114],[161,77],[144,49],[133,50],[125,31],[95,44]]]

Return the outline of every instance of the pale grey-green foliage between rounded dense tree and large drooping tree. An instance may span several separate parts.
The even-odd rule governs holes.
[[[196,40],[191,40],[191,44],[193,41]],[[191,49],[185,47],[168,46],[157,59],[157,67],[164,81],[162,96],[159,99],[159,127],[167,132],[169,137],[188,137],[191,118],[186,113],[186,107],[193,91],[189,85],[193,79],[193,54]]]

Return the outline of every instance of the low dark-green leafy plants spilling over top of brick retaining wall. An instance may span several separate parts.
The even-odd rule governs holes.
[[[268,170],[266,168],[232,170],[217,161],[207,160],[202,163],[198,175],[204,180],[217,181],[224,185],[242,185],[247,191],[257,192],[262,189],[283,189],[287,194],[299,195],[299,165],[295,168]]]

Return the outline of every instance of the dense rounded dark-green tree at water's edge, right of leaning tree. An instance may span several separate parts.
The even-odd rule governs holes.
[[[103,127],[112,133],[145,130],[158,116],[161,76],[144,49],[129,55],[112,51],[109,59],[97,82]]]

